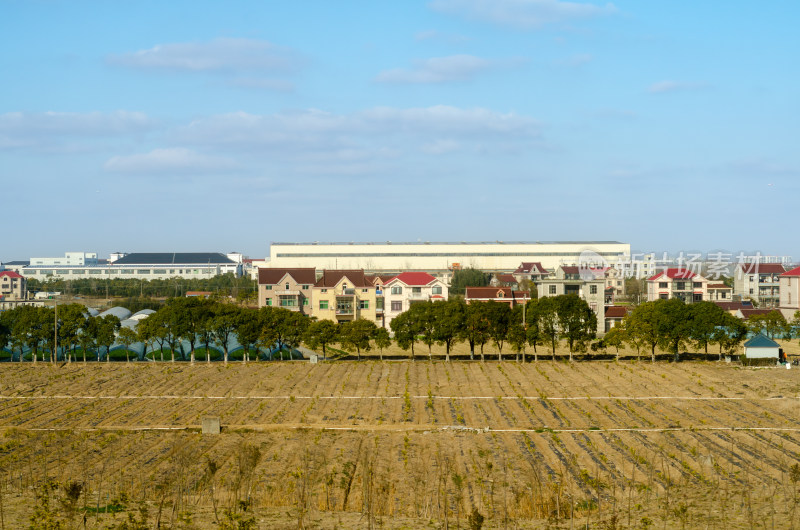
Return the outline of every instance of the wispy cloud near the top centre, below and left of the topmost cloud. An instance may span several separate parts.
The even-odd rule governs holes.
[[[378,74],[383,83],[444,83],[464,81],[493,65],[492,61],[473,55],[451,55],[414,61],[414,68],[394,68]]]

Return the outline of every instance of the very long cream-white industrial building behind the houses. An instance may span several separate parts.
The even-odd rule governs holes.
[[[631,246],[617,241],[535,241],[475,243],[272,243],[267,267],[365,269],[368,272],[408,270],[445,272],[473,267],[514,271],[523,261],[548,269],[578,264],[592,256],[614,263],[630,259]],[[583,256],[583,258],[582,258]],[[600,263],[598,263],[599,265]]]

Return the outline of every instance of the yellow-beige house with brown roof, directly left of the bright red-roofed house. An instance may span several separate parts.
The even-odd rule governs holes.
[[[374,281],[363,269],[322,271],[312,288],[311,316],[339,323],[362,318],[380,325],[383,307],[378,310],[378,299],[383,303],[383,295],[378,296],[382,289]]]

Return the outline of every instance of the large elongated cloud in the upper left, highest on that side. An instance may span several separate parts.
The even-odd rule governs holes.
[[[302,62],[287,48],[254,39],[214,39],[209,42],[159,44],[108,58],[112,64],[143,69],[188,72],[287,72]]]

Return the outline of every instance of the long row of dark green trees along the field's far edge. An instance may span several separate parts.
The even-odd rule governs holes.
[[[391,329],[394,341],[410,351],[412,359],[420,343],[427,346],[429,356],[434,344],[444,346],[448,361],[453,347],[462,342],[469,344],[471,359],[477,348],[484,360],[484,346],[491,343],[500,360],[508,346],[517,359],[521,354],[524,361],[528,346],[538,360],[539,346],[547,347],[555,358],[557,346],[564,342],[570,360],[574,352],[585,352],[590,344],[593,349],[615,347],[617,352],[627,344],[637,353],[649,350],[655,361],[656,348],[672,352],[677,360],[681,350],[692,346],[708,353],[709,345],[716,344],[720,356],[734,352],[750,333],[789,337],[793,327],[800,324],[800,312],[791,323],[774,311],[752,317],[745,324],[712,302],[686,305],[671,299],[639,305],[601,341],[592,343],[597,324],[595,313],[584,300],[562,295],[514,308],[493,301],[467,304],[461,298],[421,302],[395,317]],[[303,342],[313,349],[321,348],[323,355],[337,344],[360,359],[362,352],[373,347],[380,349],[382,358],[392,339],[386,329],[368,320],[336,324],[314,321],[283,308],[252,309],[200,298],[167,300],[142,319],[135,331],[121,327],[113,315],[92,317],[77,304],[59,307],[57,322],[50,307],[21,306],[0,314],[0,345],[18,352],[19,360],[26,351],[31,352],[33,360],[40,352],[45,358],[45,353],[56,351],[56,344],[60,358],[67,361],[77,359],[79,353],[85,361],[91,352],[98,360],[103,353],[108,359],[114,344],[130,352],[134,344],[142,343],[145,351],[160,352],[161,360],[167,352],[172,361],[177,355],[192,362],[196,350],[203,347],[208,360],[210,350],[216,349],[227,362],[231,348],[240,345],[242,360],[247,361],[253,353],[258,359],[262,352],[291,352]],[[59,356],[50,354],[48,358],[55,361]]]

